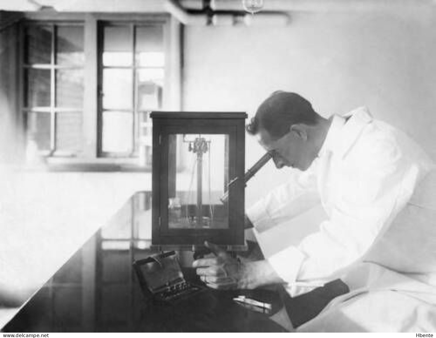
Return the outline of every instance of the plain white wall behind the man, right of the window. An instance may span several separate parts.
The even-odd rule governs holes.
[[[436,159],[436,9],[299,13],[288,27],[186,27],[185,110],[245,111],[272,91],[296,91],[322,115],[367,105]],[[246,167],[262,155],[247,138]],[[267,165],[252,204],[286,177]]]

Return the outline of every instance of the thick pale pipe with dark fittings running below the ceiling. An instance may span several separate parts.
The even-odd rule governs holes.
[[[284,12],[260,12],[254,16],[243,10],[214,10],[210,6],[202,10],[187,10],[177,0],[165,0],[164,9],[184,25],[222,25],[237,24],[285,26],[290,17]]]

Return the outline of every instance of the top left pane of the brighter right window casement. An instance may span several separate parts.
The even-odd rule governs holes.
[[[128,26],[105,27],[103,66],[132,65],[132,31]]]

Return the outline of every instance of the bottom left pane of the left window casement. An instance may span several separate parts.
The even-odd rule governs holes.
[[[38,150],[50,150],[50,113],[27,113],[27,139],[36,143]]]

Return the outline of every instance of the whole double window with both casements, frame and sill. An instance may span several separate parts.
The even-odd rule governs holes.
[[[27,159],[50,168],[151,170],[149,112],[180,107],[179,27],[167,15],[27,14]]]

